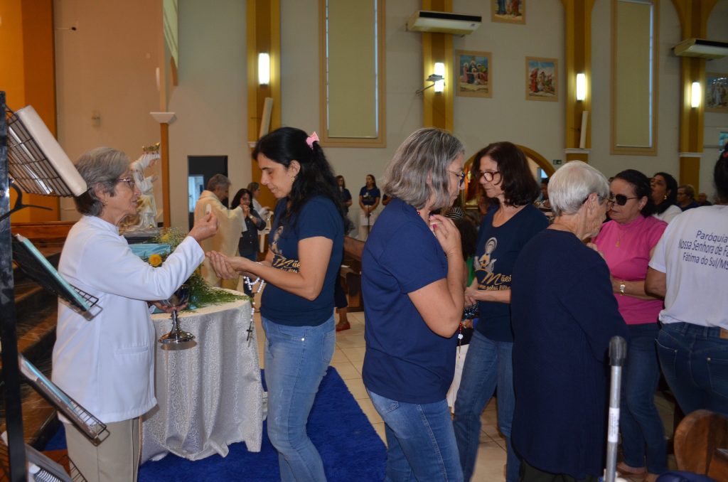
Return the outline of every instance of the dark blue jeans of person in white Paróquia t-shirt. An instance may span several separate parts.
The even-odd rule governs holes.
[[[662,373],[685,414],[705,408],[728,416],[728,339],[720,332],[665,323],[657,336]]]

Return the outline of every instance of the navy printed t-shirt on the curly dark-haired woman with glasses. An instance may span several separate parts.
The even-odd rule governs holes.
[[[521,248],[531,237],[546,229],[548,220],[534,205],[525,208],[502,226],[493,226],[497,208],[488,210],[478,229],[475,245],[475,277],[478,290],[509,290],[513,264]],[[510,328],[510,304],[478,301],[480,320],[475,329],[494,341],[513,341]]]

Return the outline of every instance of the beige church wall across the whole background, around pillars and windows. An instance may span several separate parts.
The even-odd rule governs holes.
[[[316,0],[281,1],[282,124],[308,132],[319,130],[319,64]],[[63,147],[71,158],[99,145],[136,154],[139,146],[156,141],[159,127],[149,111],[159,108],[154,73],[159,66],[157,35],[161,19],[157,4],[130,0],[56,0],[56,25],[79,30],[56,31],[58,50],[58,119]],[[81,5],[83,4],[83,8]],[[487,143],[508,140],[534,149],[546,159],[564,159],[563,5],[559,0],[528,2],[526,25],[492,23],[482,0],[454,0],[453,10],[483,15],[470,36],[454,37],[454,50],[493,54],[493,97],[455,97],[454,133],[470,156]],[[328,148],[336,173],[344,175],[356,197],[365,175],[381,177],[397,146],[422,127],[424,87],[422,36],[405,30],[419,0],[387,1],[387,147]],[[245,2],[181,0],[179,85],[169,94],[172,221],[186,226],[186,157],[226,154],[233,189],[250,181],[245,138],[248,119],[245,95]],[[593,17],[593,112],[591,162],[606,175],[633,167],[651,175],[657,170],[678,173],[680,60],[670,48],[680,37],[671,1],[660,2],[660,107],[658,155],[609,154],[610,0],[596,0]],[[719,0],[708,26],[711,39],[728,41],[728,0]],[[557,58],[559,101],[525,100],[524,58]],[[163,58],[163,55],[161,56]],[[710,71],[728,71],[728,60],[708,62]],[[101,114],[91,125],[92,111]],[[705,144],[716,143],[717,128],[728,127],[727,114],[705,115]],[[705,148],[701,190],[708,189],[715,162],[714,148]],[[352,207],[356,216],[358,207]]]

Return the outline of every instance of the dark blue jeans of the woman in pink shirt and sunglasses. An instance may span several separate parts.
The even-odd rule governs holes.
[[[625,464],[646,465],[649,473],[660,474],[668,470],[665,428],[654,406],[654,391],[660,380],[654,340],[660,326],[657,323],[627,326],[630,341],[622,370],[620,408],[622,451]]]

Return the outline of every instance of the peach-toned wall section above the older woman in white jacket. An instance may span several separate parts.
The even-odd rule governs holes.
[[[159,125],[149,112],[159,108],[160,5],[55,0],[58,141],[71,159],[109,146],[133,160],[141,146],[159,141]],[[62,199],[61,219],[76,218],[71,199]]]

